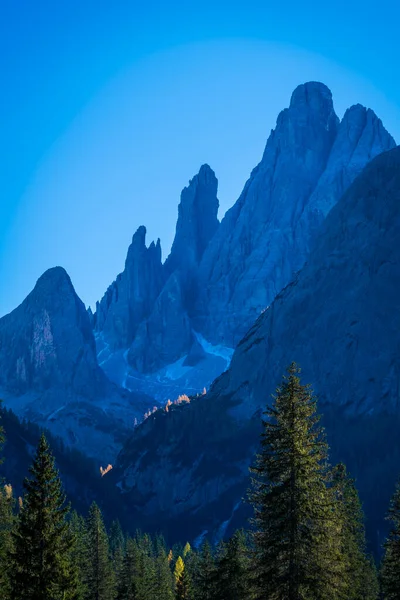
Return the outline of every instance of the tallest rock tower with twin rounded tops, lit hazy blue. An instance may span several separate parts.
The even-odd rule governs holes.
[[[299,86],[204,254],[196,328],[234,347],[303,266],[323,219],[356,175],[394,145],[371,110],[352,107],[339,123],[326,86]]]

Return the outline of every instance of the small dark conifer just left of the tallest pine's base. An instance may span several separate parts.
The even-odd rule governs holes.
[[[243,531],[237,531],[219,553],[215,600],[250,600],[250,560]]]

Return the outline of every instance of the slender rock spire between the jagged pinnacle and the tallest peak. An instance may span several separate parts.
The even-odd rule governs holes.
[[[207,164],[182,190],[175,239],[165,263],[168,274],[199,264],[219,225],[217,190],[218,180]]]

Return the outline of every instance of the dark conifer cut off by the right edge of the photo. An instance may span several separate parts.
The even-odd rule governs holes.
[[[392,529],[385,542],[381,582],[385,600],[400,600],[400,482],[390,503],[388,521]]]

